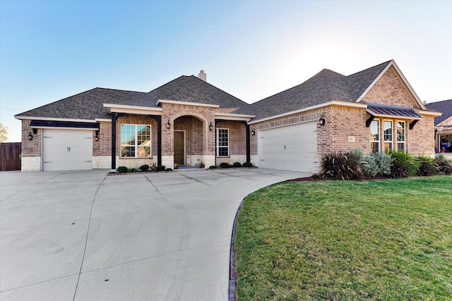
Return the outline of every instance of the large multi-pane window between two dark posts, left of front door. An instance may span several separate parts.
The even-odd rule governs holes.
[[[150,125],[121,124],[121,157],[150,157]]]

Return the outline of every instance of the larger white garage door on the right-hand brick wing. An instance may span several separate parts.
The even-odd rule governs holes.
[[[317,123],[258,131],[259,167],[316,173]]]

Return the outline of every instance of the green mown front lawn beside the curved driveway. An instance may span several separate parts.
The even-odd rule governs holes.
[[[452,300],[452,176],[278,183],[237,225],[238,300]]]

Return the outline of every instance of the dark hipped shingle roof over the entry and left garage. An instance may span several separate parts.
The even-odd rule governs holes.
[[[95,88],[40,106],[16,116],[94,119],[110,118],[103,104],[157,107],[158,99],[201,104],[218,104],[230,113],[251,114],[249,104],[242,102],[194,75],[181,76],[148,93]]]

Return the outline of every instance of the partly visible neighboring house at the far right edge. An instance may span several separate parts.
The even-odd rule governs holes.
[[[426,106],[429,110],[442,113],[434,121],[436,152],[452,152],[452,99],[432,102]]]

